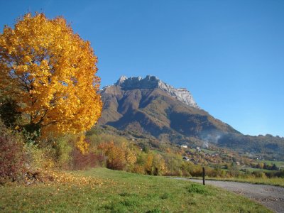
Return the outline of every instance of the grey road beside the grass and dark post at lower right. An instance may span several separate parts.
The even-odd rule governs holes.
[[[179,178],[194,182],[202,182],[202,180]],[[284,187],[275,187],[272,185],[258,185],[247,182],[230,182],[206,180],[208,185],[222,187],[239,195],[249,197],[251,200],[260,202],[273,212],[284,212]]]

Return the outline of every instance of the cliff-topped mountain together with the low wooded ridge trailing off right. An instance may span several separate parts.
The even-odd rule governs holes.
[[[243,153],[284,151],[284,139],[244,136],[197,106],[186,89],[175,89],[157,77],[121,77],[101,91],[104,109],[99,124],[150,134],[163,141],[192,144],[190,138]]]

